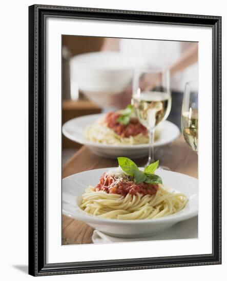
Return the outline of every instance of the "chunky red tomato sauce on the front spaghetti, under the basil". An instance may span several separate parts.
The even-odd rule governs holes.
[[[158,184],[151,184],[147,182],[141,182],[136,184],[134,181],[118,181],[116,183],[115,179],[105,173],[100,177],[99,183],[95,186],[96,189],[105,191],[106,193],[120,194],[126,196],[128,193],[131,195],[137,192],[142,195],[154,195],[158,190]]]

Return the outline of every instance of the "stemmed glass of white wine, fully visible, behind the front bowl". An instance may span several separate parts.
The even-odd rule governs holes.
[[[154,162],[154,130],[167,119],[171,109],[170,74],[168,69],[136,69],[133,76],[132,104],[140,123],[149,132],[148,163]]]

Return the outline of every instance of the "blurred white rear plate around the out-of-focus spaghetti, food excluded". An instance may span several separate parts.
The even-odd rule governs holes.
[[[85,139],[84,131],[89,125],[94,124],[104,114],[91,114],[80,116],[69,120],[63,125],[63,134],[76,143],[88,146],[95,154],[116,158],[125,156],[130,158],[140,158],[148,155],[149,145],[106,145],[90,142]],[[179,136],[179,129],[169,121],[163,121],[158,125],[159,137],[154,143],[154,147],[167,145]]]

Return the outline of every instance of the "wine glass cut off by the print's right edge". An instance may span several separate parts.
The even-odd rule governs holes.
[[[192,150],[198,153],[198,83],[185,84],[181,111],[181,130]]]

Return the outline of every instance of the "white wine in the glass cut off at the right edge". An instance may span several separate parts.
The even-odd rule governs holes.
[[[185,141],[198,152],[198,110],[191,109],[181,116],[181,130]]]

